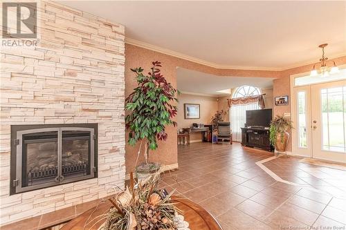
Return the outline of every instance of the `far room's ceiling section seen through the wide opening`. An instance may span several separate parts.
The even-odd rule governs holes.
[[[217,96],[225,95],[230,88],[244,85],[273,88],[273,78],[215,76],[179,67],[176,69],[176,85],[182,93]],[[220,90],[225,92],[217,92]]]

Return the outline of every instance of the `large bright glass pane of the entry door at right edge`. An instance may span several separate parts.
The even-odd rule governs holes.
[[[322,150],[345,153],[346,87],[321,90]]]

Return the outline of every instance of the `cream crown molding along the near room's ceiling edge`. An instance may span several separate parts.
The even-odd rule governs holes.
[[[167,48],[162,48],[160,46],[154,46],[152,44],[148,44],[148,43],[143,42],[143,41],[138,41],[136,39],[131,39],[129,37],[125,37],[125,43],[133,45],[133,46],[138,46],[138,47],[141,47],[141,48],[145,48],[147,50],[153,50],[153,51],[156,51],[156,52],[161,52],[161,53],[163,53],[165,55],[170,55],[170,56],[173,56],[173,57],[178,57],[178,58],[181,58],[181,59],[185,59],[187,61],[192,61],[192,62],[197,63],[197,64],[201,64],[201,65],[204,65],[204,66],[209,66],[209,67],[212,67],[212,68],[218,68],[218,69],[284,71],[284,70],[289,70],[289,69],[292,69],[292,68],[298,68],[298,67],[301,67],[301,66],[307,66],[307,65],[318,63],[318,57],[316,57],[316,59],[314,59],[314,60],[302,61],[302,62],[299,62],[297,64],[291,65],[291,66],[286,66],[284,68],[263,68],[263,67],[258,67],[258,66],[224,66],[224,65],[216,64],[214,62],[205,61],[205,60],[199,59],[197,57],[191,57],[189,55],[184,55],[181,52],[176,52],[176,51],[173,51],[173,50],[170,50],[170,49],[167,49]],[[346,56],[346,52],[343,52],[343,53],[338,54],[338,55],[329,56],[328,59],[329,60],[330,59],[336,59],[338,57],[344,57],[344,56]]]

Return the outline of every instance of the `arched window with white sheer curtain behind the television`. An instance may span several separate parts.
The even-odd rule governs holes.
[[[260,95],[260,88],[254,86],[240,86],[233,93],[233,98]],[[230,121],[232,126],[232,139],[235,142],[242,140],[242,129],[246,122],[246,111],[260,109],[258,102],[250,104],[239,104],[230,107]]]

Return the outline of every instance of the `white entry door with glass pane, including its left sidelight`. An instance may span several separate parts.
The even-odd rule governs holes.
[[[295,87],[296,154],[346,162],[346,80]]]

